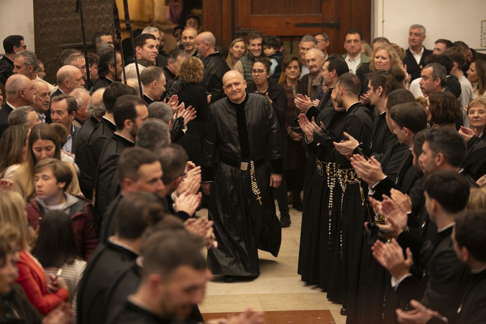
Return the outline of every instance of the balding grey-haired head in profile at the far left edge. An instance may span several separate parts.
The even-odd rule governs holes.
[[[7,101],[14,107],[29,106],[34,103],[35,85],[23,74],[13,74],[5,83]]]

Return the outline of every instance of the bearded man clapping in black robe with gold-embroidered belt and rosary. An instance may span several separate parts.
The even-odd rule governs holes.
[[[343,107],[344,114],[340,117],[342,121],[339,122],[339,126],[336,124],[335,128],[328,129],[325,123],[321,124],[319,128],[315,123],[312,125],[303,115],[299,117],[300,127],[306,134],[306,143],[315,141],[315,145],[319,146],[319,150],[322,150],[321,155],[316,155],[316,162],[319,163],[316,163],[317,173],[315,177],[322,176],[324,169],[326,169],[326,175],[330,175],[330,186],[333,182],[333,187],[336,189],[340,187],[340,189],[332,192],[332,202],[329,202],[329,205],[327,203],[322,204],[322,210],[316,208],[311,213],[315,213],[319,217],[321,213],[330,214],[330,222],[327,224],[328,230],[326,231],[329,243],[326,245],[317,242],[316,244],[328,246],[328,249],[329,246],[331,247],[332,269],[328,298],[335,302],[342,302],[344,306],[347,303],[347,287],[350,277],[348,270],[352,267],[356,254],[355,239],[360,237],[360,232],[362,232],[358,224],[364,222],[366,215],[364,208],[365,189],[362,187],[360,178],[351,168],[349,159],[338,152],[335,143],[343,141],[346,134],[358,138],[364,145],[370,143],[373,128],[372,116],[358,102],[359,90],[360,81],[355,75],[345,73],[340,77],[334,88],[334,94],[336,104],[338,107]],[[339,114],[334,114],[334,118],[339,118]],[[331,121],[332,123],[333,121]],[[314,194],[317,193],[312,189],[309,191]],[[328,191],[321,190],[321,192],[324,198],[319,198],[327,202]],[[329,190],[330,192],[331,190]],[[331,204],[332,208],[330,208]],[[329,213],[329,209],[332,209],[331,213]],[[335,232],[334,235],[332,234],[333,231]],[[329,263],[330,259],[326,261]]]

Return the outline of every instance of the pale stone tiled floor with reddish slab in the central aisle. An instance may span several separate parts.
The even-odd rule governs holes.
[[[203,215],[202,210],[200,213]],[[278,257],[259,251],[260,276],[252,281],[228,284],[222,281],[221,276],[215,276],[208,284],[204,303],[199,306],[203,316],[205,313],[224,315],[242,312],[251,307],[255,311],[269,312],[265,315],[267,324],[346,323],[346,317],[339,314],[340,304],[331,303],[316,286],[306,286],[300,280],[297,260],[302,214],[293,208],[290,214],[292,225],[282,228]],[[294,310],[305,311],[286,312]],[[324,310],[329,310],[331,317]],[[205,319],[217,318],[214,316],[207,314]],[[288,321],[282,321],[284,318]],[[296,318],[299,320],[296,321]]]

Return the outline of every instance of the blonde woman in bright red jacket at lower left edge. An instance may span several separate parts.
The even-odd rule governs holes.
[[[17,283],[25,290],[29,301],[46,315],[69,299],[64,279],[48,278],[39,261],[31,255],[27,236],[27,214],[20,194],[13,190],[0,190],[0,227],[10,224],[20,233]],[[48,292],[52,291],[52,292]]]

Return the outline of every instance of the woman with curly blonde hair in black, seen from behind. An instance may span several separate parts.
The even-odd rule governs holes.
[[[177,95],[179,102],[186,107],[192,106],[196,111],[196,118],[188,122],[186,134],[177,141],[189,155],[189,159],[201,165],[202,142],[208,120],[209,107],[206,87],[202,84],[204,66],[200,59],[194,56],[186,57],[177,70],[177,79],[173,85],[178,84]]]

